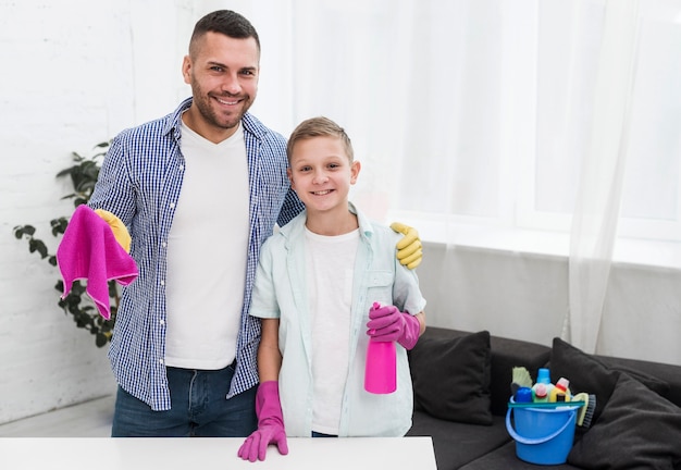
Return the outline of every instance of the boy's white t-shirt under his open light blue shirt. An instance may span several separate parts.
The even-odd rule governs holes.
[[[312,316],[312,430],[337,435],[348,376],[359,230],[324,236],[306,228],[305,242]]]

